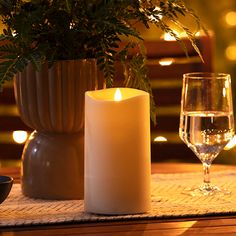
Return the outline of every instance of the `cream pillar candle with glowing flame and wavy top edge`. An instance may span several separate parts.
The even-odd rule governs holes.
[[[85,211],[143,213],[151,206],[149,94],[116,91],[85,94]]]

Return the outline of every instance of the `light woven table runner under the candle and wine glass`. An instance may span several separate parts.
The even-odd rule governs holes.
[[[188,186],[202,182],[201,173],[155,174],[152,176],[152,210],[146,214],[103,216],[84,212],[82,200],[52,201],[30,199],[14,184],[0,205],[0,227],[57,223],[104,222],[161,219],[236,213],[236,172],[212,173],[212,182],[231,190],[223,197],[191,197],[182,194]]]

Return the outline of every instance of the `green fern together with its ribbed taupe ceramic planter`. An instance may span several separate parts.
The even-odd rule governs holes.
[[[136,25],[148,28],[149,24],[154,24],[181,44],[168,25],[172,22],[187,33],[198,51],[195,32],[190,32],[179,21],[180,15],[193,17],[199,26],[198,17],[182,0],[0,1],[4,26],[0,36],[0,86],[17,75],[15,94],[20,114],[37,130],[23,152],[22,180],[26,195],[82,198],[81,111],[84,91],[95,89],[96,65],[103,72],[106,86],[111,87],[115,61],[122,61],[126,78],[129,78],[124,80],[124,86],[135,86],[151,94],[145,53],[140,46],[142,37]],[[124,39],[126,43],[120,46]],[[140,53],[127,60],[129,50],[134,47],[140,49]],[[139,65],[138,83],[132,82],[132,60]],[[73,72],[76,69],[77,73]],[[80,78],[80,75],[84,76]],[[71,80],[72,84],[68,85]],[[151,114],[155,121],[155,110]],[[80,117],[79,122],[71,120],[72,116]],[[76,128],[72,129],[74,126]],[[65,134],[66,139],[63,138]],[[62,151],[64,149],[68,150]],[[66,189],[72,191],[67,194]]]

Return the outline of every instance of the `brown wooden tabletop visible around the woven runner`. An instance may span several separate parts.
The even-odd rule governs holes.
[[[212,171],[235,169],[236,166],[216,165]],[[152,164],[153,173],[181,173],[201,171],[201,164]],[[0,175],[11,175],[20,181],[19,168],[0,168]],[[236,204],[236,203],[235,203]],[[0,208],[1,210],[1,208]],[[12,235],[236,235],[235,216],[138,220],[106,223],[77,223],[50,226],[0,228],[0,236]]]

